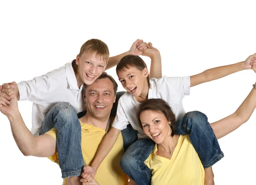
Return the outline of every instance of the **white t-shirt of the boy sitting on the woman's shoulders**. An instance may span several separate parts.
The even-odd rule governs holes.
[[[180,120],[186,113],[182,99],[190,92],[190,77],[162,77],[150,79],[148,99],[161,98],[169,103],[176,120]],[[128,91],[120,97],[116,112],[116,118],[112,124],[119,130],[125,129],[128,124],[138,131],[138,138],[147,138],[136,118],[136,111],[140,103]]]

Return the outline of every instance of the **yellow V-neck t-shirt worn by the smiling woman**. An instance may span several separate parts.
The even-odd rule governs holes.
[[[157,145],[145,164],[152,171],[152,185],[204,185],[204,167],[189,141],[180,136],[171,159],[156,155]]]

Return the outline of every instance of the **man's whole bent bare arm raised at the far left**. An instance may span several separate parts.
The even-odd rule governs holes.
[[[18,148],[25,156],[49,157],[56,152],[55,139],[47,134],[34,137],[26,127],[17,105],[17,97],[13,97],[10,105],[0,108],[10,121],[12,134]]]

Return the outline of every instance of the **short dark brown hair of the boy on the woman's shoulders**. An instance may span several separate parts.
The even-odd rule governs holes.
[[[128,54],[122,57],[120,62],[116,65],[116,74],[119,71],[125,71],[131,67],[137,68],[140,71],[143,71],[144,68],[147,68],[146,63],[137,55]],[[150,88],[149,74],[147,77],[148,87]]]

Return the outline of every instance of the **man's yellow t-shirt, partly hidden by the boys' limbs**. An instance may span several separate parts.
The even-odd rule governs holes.
[[[111,119],[112,120],[112,119]],[[81,124],[81,148],[84,157],[84,164],[89,165],[92,161],[97,148],[105,136],[106,132],[102,128],[98,128],[92,125],[88,125],[80,121]],[[56,139],[56,129],[52,128],[49,132],[45,133],[51,135]],[[123,139],[122,134],[119,134],[115,145],[103,160],[102,164],[97,170],[97,174],[94,179],[100,185],[127,185],[128,176],[122,172],[122,168],[119,165],[121,157],[123,155]],[[58,153],[48,157],[53,162],[58,163]],[[64,179],[63,185],[67,185],[67,178]]]

